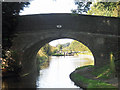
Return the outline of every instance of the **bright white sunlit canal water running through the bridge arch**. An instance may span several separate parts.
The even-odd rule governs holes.
[[[69,78],[77,67],[93,65],[90,55],[51,56],[49,66],[39,71],[36,79],[37,88],[79,88]]]

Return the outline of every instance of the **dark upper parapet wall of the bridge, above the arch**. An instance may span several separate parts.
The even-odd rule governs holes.
[[[74,15],[74,14],[38,14],[19,17],[16,32],[76,31],[95,34],[118,35],[120,19],[115,17]],[[57,28],[61,25],[61,28]]]

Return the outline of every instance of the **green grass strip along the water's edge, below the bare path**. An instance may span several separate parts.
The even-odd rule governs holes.
[[[73,73],[72,77],[74,77],[74,80],[76,82],[83,82],[85,84],[88,84],[87,88],[113,88],[113,89],[116,88],[116,87],[112,86],[111,84],[104,83],[100,80],[88,79],[88,78],[85,78],[85,77],[83,77],[79,74],[76,74],[76,73]]]

